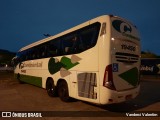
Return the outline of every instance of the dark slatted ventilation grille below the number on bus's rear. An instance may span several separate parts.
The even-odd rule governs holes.
[[[135,54],[116,52],[115,55],[118,62],[136,63],[139,60],[139,56]]]

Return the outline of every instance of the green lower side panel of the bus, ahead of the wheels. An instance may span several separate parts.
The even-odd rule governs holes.
[[[38,87],[42,87],[42,77],[20,75],[20,80]]]

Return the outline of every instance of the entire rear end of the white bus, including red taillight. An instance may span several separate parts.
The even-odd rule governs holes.
[[[119,103],[135,98],[140,90],[140,37],[136,26],[119,18],[110,17],[110,64],[106,66],[103,86],[111,94],[108,103]]]

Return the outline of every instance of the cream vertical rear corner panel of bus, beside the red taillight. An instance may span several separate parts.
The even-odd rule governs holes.
[[[111,28],[110,28],[110,18],[106,17],[106,34],[100,36],[99,39],[99,96],[100,104],[107,104],[108,99],[111,96],[111,91],[103,86],[104,74],[106,66],[111,63]]]

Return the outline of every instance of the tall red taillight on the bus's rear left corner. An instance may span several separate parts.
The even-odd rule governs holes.
[[[104,72],[103,86],[111,90],[116,90],[113,83],[112,65],[108,65]]]

